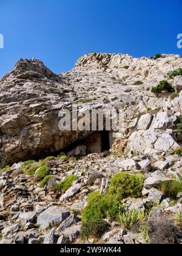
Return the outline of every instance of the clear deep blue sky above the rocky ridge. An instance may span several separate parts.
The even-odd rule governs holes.
[[[181,0],[0,0],[0,77],[20,58],[55,73],[89,52],[180,54]]]

